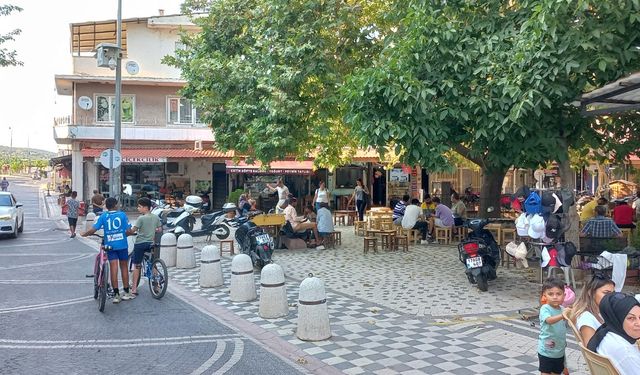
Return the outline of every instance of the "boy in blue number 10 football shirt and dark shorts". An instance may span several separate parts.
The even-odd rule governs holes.
[[[120,303],[120,300],[130,300],[135,297],[129,293],[129,271],[127,270],[127,261],[129,259],[129,245],[127,244],[127,230],[131,227],[127,215],[116,209],[118,200],[112,197],[107,198],[105,206],[107,212],[98,217],[96,223],[88,231],[81,234],[87,237],[96,231],[104,230],[104,244],[111,246],[112,250],[107,252],[109,259],[109,271],[111,273],[111,286],[113,287],[113,303]],[[122,286],[124,295],[120,298],[118,290],[118,265],[120,265],[120,273],[122,274]]]

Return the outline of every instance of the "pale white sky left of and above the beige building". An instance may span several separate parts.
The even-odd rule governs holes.
[[[122,18],[180,13],[181,0],[122,0]],[[117,0],[0,0],[22,12],[0,17],[0,35],[22,33],[3,48],[24,63],[0,67],[0,145],[57,151],[53,119],[71,114],[71,98],[58,96],[54,76],[72,73],[69,24],[117,18]]]

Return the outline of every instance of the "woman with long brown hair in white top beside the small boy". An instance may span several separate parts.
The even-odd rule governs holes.
[[[596,273],[582,288],[580,297],[573,304],[571,319],[576,322],[582,343],[587,345],[596,330],[602,325],[600,301],[615,292],[616,284],[603,273]]]

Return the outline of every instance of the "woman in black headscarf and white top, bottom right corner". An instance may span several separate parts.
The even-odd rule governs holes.
[[[607,294],[600,302],[604,323],[587,348],[605,355],[620,375],[640,373],[640,302],[624,293]]]

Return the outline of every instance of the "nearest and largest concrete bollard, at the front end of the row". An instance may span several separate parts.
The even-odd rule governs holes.
[[[331,337],[324,282],[312,274],[300,283],[296,336],[304,341],[320,341]]]

